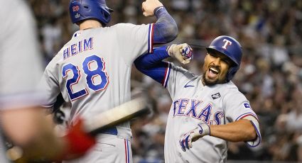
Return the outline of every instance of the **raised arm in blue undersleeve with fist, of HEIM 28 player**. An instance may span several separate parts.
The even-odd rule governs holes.
[[[168,13],[166,8],[158,0],[146,0],[142,3],[141,8],[144,16],[153,16],[157,18],[153,25],[153,43],[163,44],[170,43],[178,35],[176,21]]]

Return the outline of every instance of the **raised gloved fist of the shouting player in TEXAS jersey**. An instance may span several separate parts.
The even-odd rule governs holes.
[[[168,55],[175,57],[180,63],[188,64],[193,58],[192,48],[186,44],[172,44],[167,47]]]

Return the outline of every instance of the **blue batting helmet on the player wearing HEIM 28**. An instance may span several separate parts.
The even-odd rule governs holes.
[[[107,7],[105,0],[71,0],[69,12],[72,23],[92,18],[107,26],[113,10]]]

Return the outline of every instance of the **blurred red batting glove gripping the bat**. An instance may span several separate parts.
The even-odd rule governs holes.
[[[68,150],[63,154],[61,159],[75,159],[80,157],[95,145],[95,137],[85,133],[82,124],[83,120],[79,119],[77,123],[68,130],[67,135],[63,137],[67,141]]]

